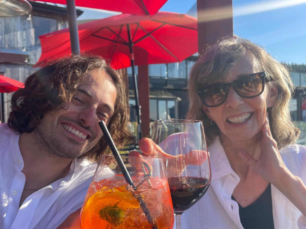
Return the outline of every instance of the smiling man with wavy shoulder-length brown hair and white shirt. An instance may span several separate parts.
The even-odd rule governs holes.
[[[98,57],[60,60],[30,75],[0,125],[0,228],[56,228],[80,209],[100,155],[98,122],[131,140],[125,85]]]

